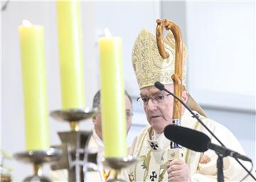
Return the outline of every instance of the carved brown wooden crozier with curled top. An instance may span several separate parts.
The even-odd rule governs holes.
[[[163,29],[171,30],[174,34],[175,39],[175,68],[174,74],[171,76],[171,79],[174,81],[174,94],[178,96],[178,98],[182,97],[182,36],[181,30],[178,28],[178,25],[169,21],[169,20],[156,20],[156,43],[159,50],[159,54],[164,59],[169,57],[168,52],[166,52],[164,48],[164,41],[163,41]],[[173,120],[180,121],[181,120],[181,103],[174,98],[174,113],[173,113]],[[178,121],[178,123],[180,123]]]

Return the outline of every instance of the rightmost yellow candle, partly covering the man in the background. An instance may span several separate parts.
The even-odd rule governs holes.
[[[102,137],[105,157],[125,157],[126,120],[121,38],[99,39]]]

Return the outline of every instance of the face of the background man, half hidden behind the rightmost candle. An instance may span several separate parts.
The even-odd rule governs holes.
[[[100,108],[100,106],[99,106]],[[128,96],[125,96],[125,108],[126,108],[126,122],[127,122],[127,133],[132,125],[132,103],[129,101]],[[95,131],[97,135],[102,139],[102,119],[101,114],[98,113],[92,118],[93,124],[95,125]]]

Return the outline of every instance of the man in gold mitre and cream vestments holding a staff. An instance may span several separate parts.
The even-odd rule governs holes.
[[[140,88],[137,99],[146,113],[149,125],[135,138],[129,154],[139,157],[139,163],[128,170],[130,181],[216,181],[217,169],[215,152],[193,152],[183,148],[184,160],[169,161],[168,150],[170,141],[164,137],[164,127],[172,124],[174,98],[165,91],[154,87],[155,81],[160,81],[169,91],[174,91],[171,75],[174,74],[175,40],[170,32],[164,38],[168,59],[159,55],[156,38],[148,30],[143,29],[134,43],[132,63]],[[183,86],[186,86],[186,47],[183,45]],[[201,120],[230,149],[243,154],[242,147],[235,136],[223,125],[206,117],[206,114],[191,98],[188,91],[182,93],[182,100],[195,110]],[[182,108],[181,125],[205,132],[212,142],[214,138],[193,118],[191,113]],[[239,181],[246,172],[230,157],[223,161],[225,181]]]

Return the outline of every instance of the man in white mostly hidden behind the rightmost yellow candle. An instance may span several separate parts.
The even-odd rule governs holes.
[[[92,103],[93,108],[98,108],[100,110],[100,91],[97,91],[93,98]],[[127,133],[132,125],[132,98],[129,96],[127,91],[125,91],[125,108],[126,108],[126,121],[127,121]],[[102,142],[102,118],[101,113],[97,113],[92,118],[94,128],[92,129],[92,137],[89,141],[88,148],[97,148],[98,150],[98,159],[102,158],[103,153],[103,142]],[[87,172],[87,181],[107,181],[107,178],[110,178],[111,171],[102,169],[100,167],[99,171],[88,171]],[[122,173],[122,176],[125,174]],[[126,176],[124,176],[125,178]],[[50,171],[50,179],[52,181],[68,181],[68,171],[67,170],[58,170]]]

